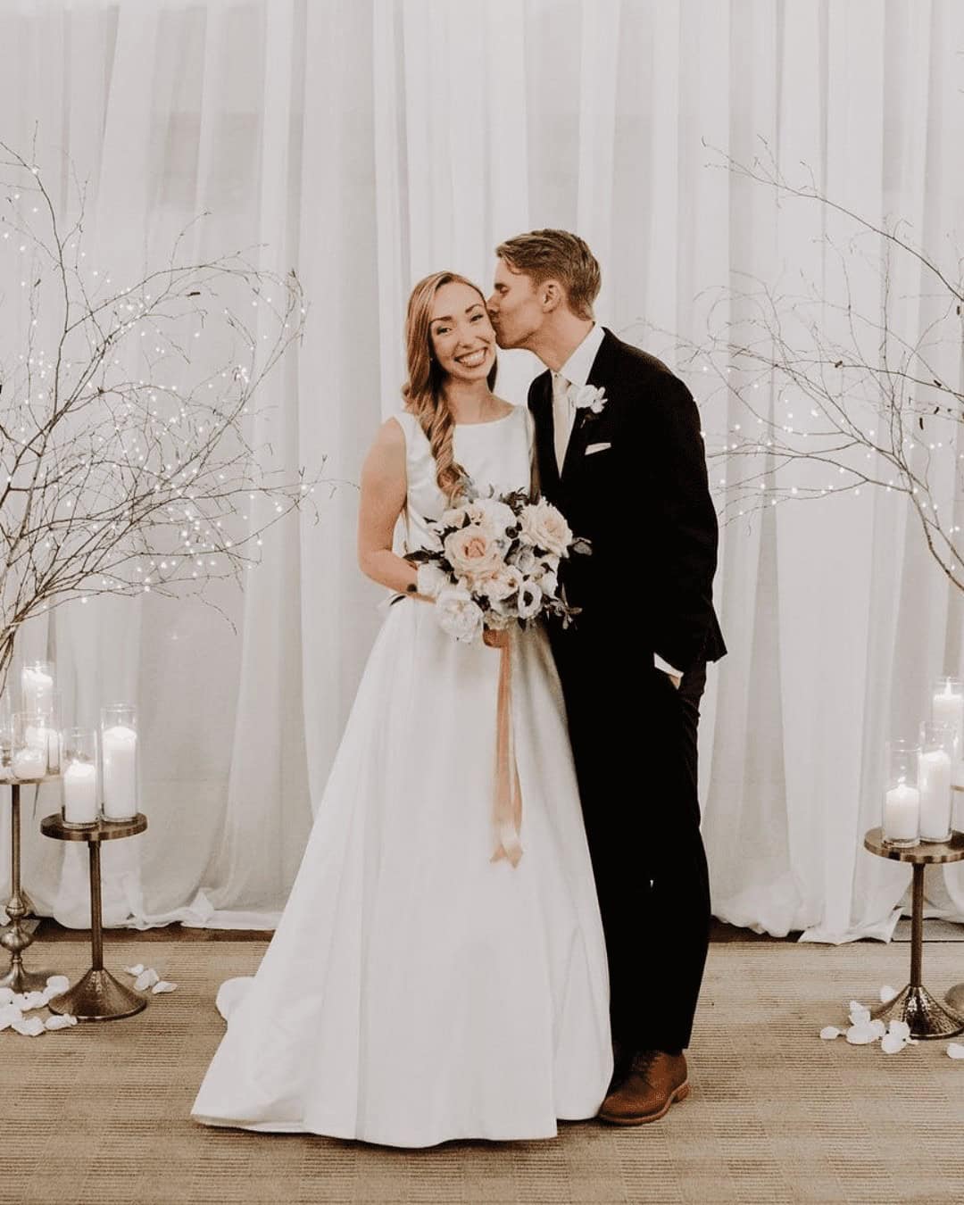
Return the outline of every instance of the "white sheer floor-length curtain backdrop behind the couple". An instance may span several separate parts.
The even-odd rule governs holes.
[[[953,261],[964,230],[956,0],[36,0],[0,6],[0,139],[29,152],[36,131],[65,212],[72,160],[92,257],[135,272],[207,210],[195,254],[261,245],[311,304],[257,422],[274,463],[324,457],[333,484],[318,525],[274,529],[243,594],[214,592],[236,633],[145,596],[24,634],[23,652],[55,654],[69,722],[116,698],[140,709],[151,828],[105,848],[114,924],[270,925],[283,906],[381,618],[354,564],[355,482],[399,406],[419,276],[451,266],[484,288],[501,239],[574,229],[602,263],[600,321],[672,359],[651,328],[699,337],[707,289],[746,272],[835,283],[822,240],[839,228],[721,167],[762,139],[788,177],[905,218],[934,255]],[[5,315],[17,270],[5,247]],[[871,282],[856,280],[870,312]],[[898,283],[919,331],[925,282]],[[960,381],[959,351],[941,366]],[[500,392],[523,401],[536,371],[504,355]],[[707,431],[739,421],[688,380]],[[730,656],[701,724],[723,919],[823,941],[892,931],[907,872],[860,848],[883,741],[964,668],[960,599],[907,518],[862,492],[723,531]],[[43,788],[37,811],[55,804]],[[25,831],[39,910],[87,923],[81,854]],[[0,892],[6,842],[4,819]],[[964,876],[931,884],[935,910],[964,919]]]

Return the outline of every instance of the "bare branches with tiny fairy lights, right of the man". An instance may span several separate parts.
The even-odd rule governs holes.
[[[722,517],[865,487],[899,493],[964,589],[960,257],[941,266],[905,223],[871,222],[812,183],[794,186],[772,158],[727,158],[727,167],[781,206],[818,208],[823,275],[801,271],[792,289],[748,277],[721,288],[707,299],[706,340],[681,341],[687,369],[711,386],[704,396],[725,400],[728,429],[707,431]]]

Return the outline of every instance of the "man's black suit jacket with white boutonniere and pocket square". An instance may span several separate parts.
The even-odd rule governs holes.
[[[529,388],[541,492],[593,543],[564,563],[566,598],[582,613],[554,639],[612,643],[634,670],[653,653],[683,671],[717,660],[727,651],[712,600],[718,530],[695,402],[665,364],[610,330],[589,384],[606,402],[576,412],[562,475],[552,374]],[[587,454],[593,445],[609,447]]]

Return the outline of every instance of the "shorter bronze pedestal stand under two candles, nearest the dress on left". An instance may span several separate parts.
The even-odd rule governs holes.
[[[57,841],[87,841],[90,854],[90,960],[87,974],[63,995],[55,995],[51,1012],[70,1013],[78,1021],[113,1021],[133,1017],[147,1007],[147,999],[118,982],[104,969],[104,933],[100,917],[100,842],[134,836],[147,828],[147,817],[139,812],[129,821],[98,821],[83,827],[67,827],[60,812],[45,816],[40,831]]]

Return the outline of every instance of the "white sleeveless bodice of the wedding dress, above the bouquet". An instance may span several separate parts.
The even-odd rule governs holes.
[[[404,552],[424,548],[427,519],[436,519],[448,507],[435,481],[435,459],[425,433],[415,415],[395,415],[405,431],[406,496]],[[515,406],[504,418],[488,423],[455,425],[455,460],[472,478],[476,489],[498,494],[529,489],[533,463],[533,422],[525,406]]]

